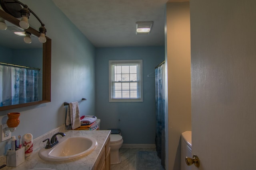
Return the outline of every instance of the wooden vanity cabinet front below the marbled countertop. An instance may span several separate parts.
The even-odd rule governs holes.
[[[110,136],[100,152],[94,170],[110,170]]]

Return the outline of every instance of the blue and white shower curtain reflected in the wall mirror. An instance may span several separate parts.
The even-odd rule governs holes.
[[[38,101],[39,72],[0,65],[0,106]]]

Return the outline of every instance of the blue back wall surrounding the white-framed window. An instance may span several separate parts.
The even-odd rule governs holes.
[[[108,61],[143,60],[143,102],[108,102]],[[96,116],[102,130],[121,129],[124,144],[155,143],[155,79],[147,77],[164,61],[163,47],[96,49]]]

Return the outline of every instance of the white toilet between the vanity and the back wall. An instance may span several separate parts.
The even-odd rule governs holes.
[[[123,144],[123,137],[121,136],[120,129],[109,129],[110,135],[110,164],[120,164],[121,156],[119,155],[119,149]]]

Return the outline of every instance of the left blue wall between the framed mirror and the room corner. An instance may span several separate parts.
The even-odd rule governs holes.
[[[46,35],[52,39],[51,102],[0,111],[0,123],[6,122],[7,113],[20,112],[20,125],[12,135],[32,133],[35,139],[65,123],[64,102],[86,98],[79,105],[81,114],[95,113],[96,49],[52,0],[44,0],[40,5],[35,0],[22,2],[36,12],[46,26]],[[36,29],[40,27],[33,15],[29,22]],[[5,144],[6,141],[0,143],[0,155]]]

